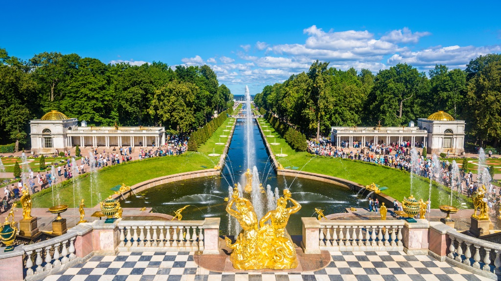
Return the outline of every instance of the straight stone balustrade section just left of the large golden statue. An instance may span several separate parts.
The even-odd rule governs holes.
[[[119,251],[218,253],[220,218],[205,220],[122,220]]]

